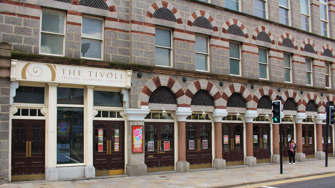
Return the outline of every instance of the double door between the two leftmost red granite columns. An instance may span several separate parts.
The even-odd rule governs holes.
[[[212,167],[212,124],[186,122],[186,161],[190,169]]]

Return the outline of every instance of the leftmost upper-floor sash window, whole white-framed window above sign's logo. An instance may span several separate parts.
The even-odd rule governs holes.
[[[65,13],[42,10],[41,54],[64,56]]]

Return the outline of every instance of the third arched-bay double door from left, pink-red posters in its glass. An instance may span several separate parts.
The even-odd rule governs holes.
[[[226,166],[243,165],[243,124],[222,123],[222,158]]]

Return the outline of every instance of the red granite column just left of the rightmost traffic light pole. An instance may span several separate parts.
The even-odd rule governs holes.
[[[326,159],[326,153],[323,152],[322,148],[322,121],[326,119],[325,114],[318,114],[317,117],[315,117],[315,123],[316,123],[316,153],[315,158],[324,160]],[[327,139],[325,139],[325,142],[327,142]]]

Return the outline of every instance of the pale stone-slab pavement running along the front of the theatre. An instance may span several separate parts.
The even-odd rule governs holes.
[[[256,167],[231,168],[225,170],[200,170],[189,173],[155,174],[137,177],[110,176],[109,178],[68,181],[25,181],[0,185],[0,188],[228,188],[258,183],[282,181],[322,174],[335,173],[335,158],[296,162],[295,165],[263,165]]]

